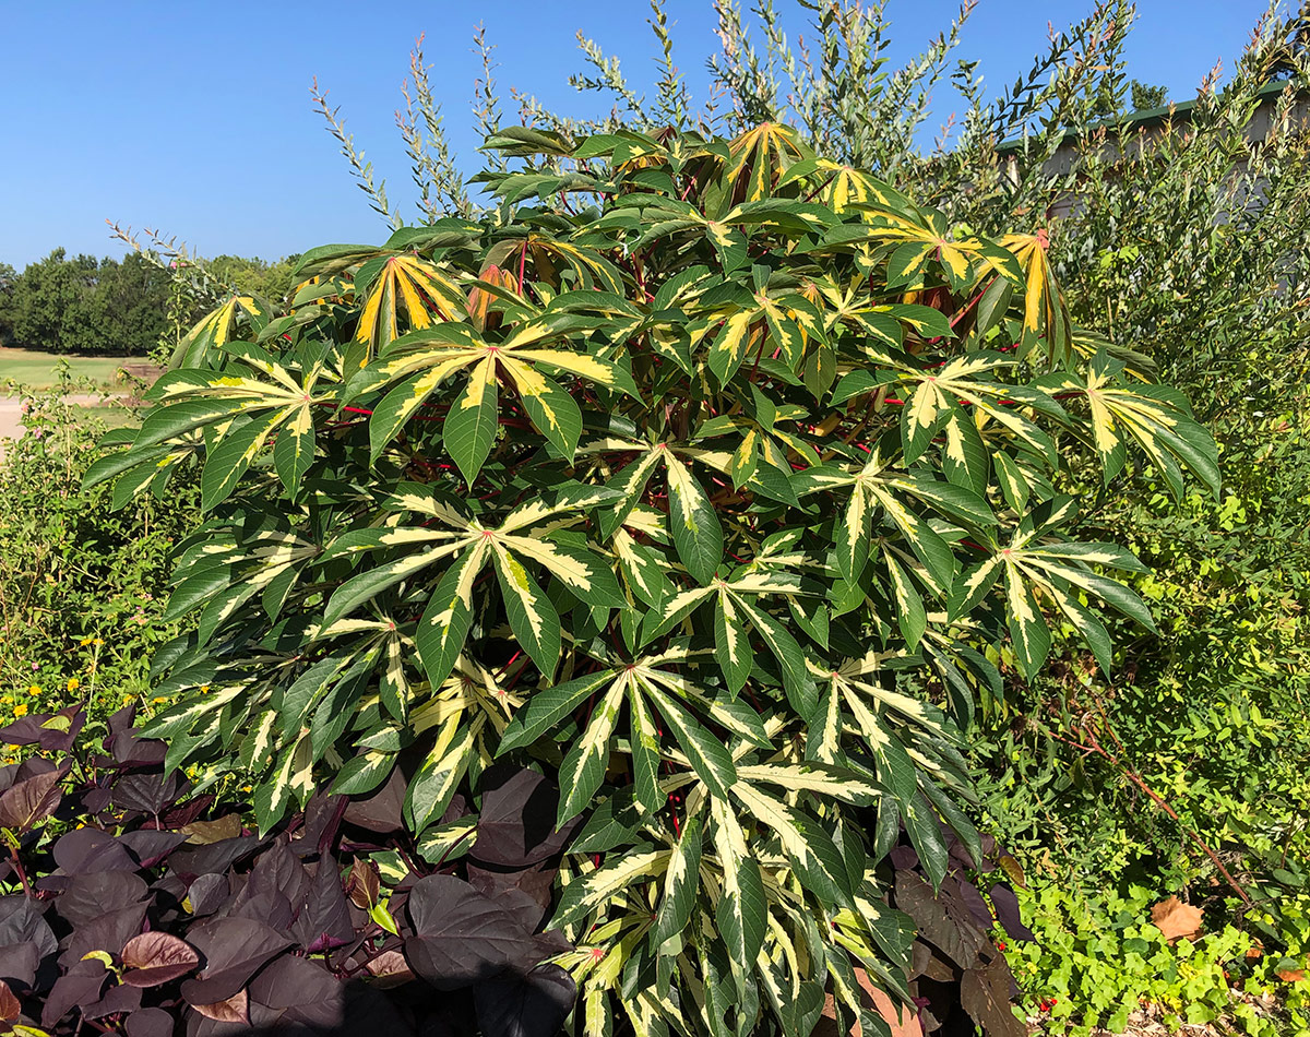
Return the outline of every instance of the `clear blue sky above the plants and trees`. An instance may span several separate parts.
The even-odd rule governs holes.
[[[1013,82],[1044,45],[1048,21],[1064,26],[1090,7],[980,0],[956,56],[979,59],[990,84]],[[1174,100],[1191,97],[1216,59],[1231,68],[1264,8],[1265,0],[1140,0],[1129,72],[1169,86]],[[889,0],[895,56],[917,52],[956,9],[956,0]],[[710,3],[669,0],[668,10],[676,60],[700,88],[717,42]],[[0,109],[0,262],[21,268],[58,245],[119,254],[106,217],[176,234],[203,255],[274,258],[328,241],[381,241],[385,225],[312,111],[314,76],[413,219],[417,192],[393,120],[419,33],[468,164],[477,144],[469,102],[479,18],[496,45],[503,94],[516,86],[588,115],[608,105],[569,86],[583,65],[576,30],[624,58],[641,90],[655,75],[647,14],[643,0],[0,0],[9,86]],[[793,26],[803,30],[804,22]],[[943,89],[934,118],[954,105]]]

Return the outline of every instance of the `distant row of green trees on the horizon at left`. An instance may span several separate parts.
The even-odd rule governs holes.
[[[291,287],[293,262],[220,255],[204,267],[242,292],[276,299]],[[0,346],[144,356],[168,333],[176,306],[183,319],[207,309],[204,300],[174,299],[174,291],[169,272],[139,253],[97,259],[55,249],[22,272],[0,263]]]

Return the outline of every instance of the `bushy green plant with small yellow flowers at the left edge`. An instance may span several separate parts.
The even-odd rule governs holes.
[[[0,718],[96,691],[93,728],[123,700],[152,711],[149,659],[178,632],[160,623],[169,554],[198,518],[179,482],[166,501],[83,492],[106,422],[67,401],[96,386],[56,365],[48,389],[17,389],[22,435],[0,460]],[[122,418],[122,415],[118,415]]]

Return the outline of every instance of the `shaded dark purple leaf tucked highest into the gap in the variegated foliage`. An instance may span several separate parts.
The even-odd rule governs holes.
[[[574,825],[554,826],[559,790],[536,771],[498,763],[482,775],[482,813],[469,855],[487,864],[524,868],[559,854]]]

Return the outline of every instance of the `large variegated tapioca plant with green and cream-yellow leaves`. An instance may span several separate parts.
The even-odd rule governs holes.
[[[580,1032],[849,1023],[855,969],[905,990],[901,829],[934,881],[943,824],[977,846],[976,695],[1052,628],[1108,669],[1103,606],[1150,626],[1070,462],[1216,487],[1213,443],[1070,326],[1038,237],[954,234],[785,127],[489,145],[494,208],[232,300],[92,473],[202,466],[148,733],[263,828],[400,773],[432,862],[456,792],[529,763],[588,818],[553,907]]]

